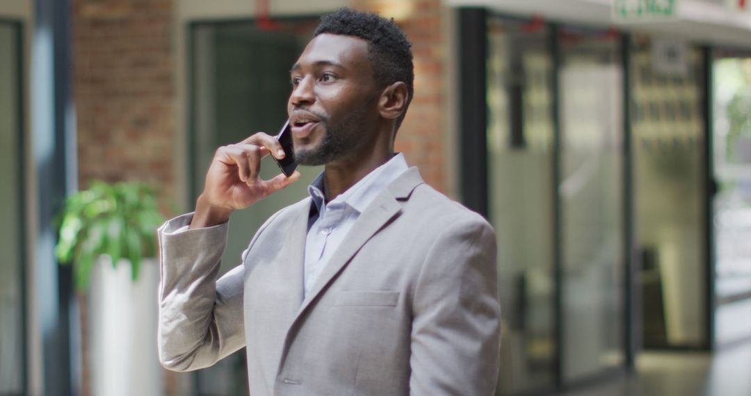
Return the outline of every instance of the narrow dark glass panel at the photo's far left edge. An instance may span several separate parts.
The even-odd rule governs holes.
[[[0,395],[23,393],[19,31],[0,23]],[[5,227],[5,226],[4,226]]]

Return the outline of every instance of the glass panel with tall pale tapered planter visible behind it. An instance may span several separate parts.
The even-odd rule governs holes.
[[[698,347],[707,337],[701,52],[644,36],[630,51],[644,347]]]

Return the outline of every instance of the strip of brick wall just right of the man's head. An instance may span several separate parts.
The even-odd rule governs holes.
[[[439,0],[353,0],[352,7],[395,17],[412,42],[415,98],[397,133],[395,149],[418,166],[428,184],[445,191],[442,90],[442,8]]]

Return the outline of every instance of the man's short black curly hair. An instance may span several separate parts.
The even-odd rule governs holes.
[[[366,40],[375,83],[382,87],[397,81],[406,84],[407,103],[397,119],[399,129],[415,92],[415,66],[412,64],[412,43],[394,19],[387,20],[377,13],[344,7],[321,17],[313,37],[318,34],[339,34]]]

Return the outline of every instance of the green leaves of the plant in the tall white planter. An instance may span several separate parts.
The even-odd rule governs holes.
[[[65,199],[55,252],[60,263],[73,263],[79,290],[89,288],[94,264],[104,254],[113,266],[128,260],[136,281],[143,257],[155,255],[155,230],[162,222],[154,191],[146,184],[93,181]]]

